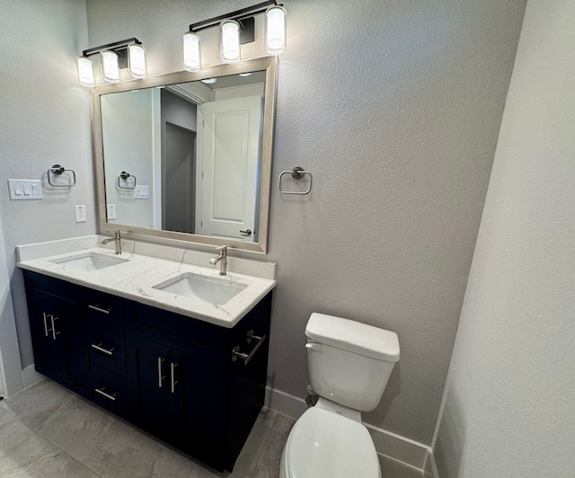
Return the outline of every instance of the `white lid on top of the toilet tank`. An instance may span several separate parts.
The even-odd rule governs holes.
[[[314,341],[366,357],[391,362],[399,360],[397,334],[367,323],[314,312],[307,321],[305,335]]]

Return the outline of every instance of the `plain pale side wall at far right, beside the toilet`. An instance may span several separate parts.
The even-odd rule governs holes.
[[[575,3],[529,0],[449,368],[442,478],[575,476]]]

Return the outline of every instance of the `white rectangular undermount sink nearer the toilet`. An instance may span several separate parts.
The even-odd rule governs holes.
[[[224,305],[247,287],[247,284],[235,282],[229,278],[220,279],[186,272],[161,284],[156,284],[153,288],[172,292],[178,296],[199,298],[214,305]]]

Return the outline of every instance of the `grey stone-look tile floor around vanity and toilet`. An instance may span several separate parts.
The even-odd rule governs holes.
[[[293,424],[262,410],[234,473],[220,474],[45,379],[0,402],[0,476],[278,478]],[[385,478],[422,476],[384,456],[380,461]]]

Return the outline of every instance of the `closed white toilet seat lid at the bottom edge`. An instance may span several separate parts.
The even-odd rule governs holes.
[[[376,447],[355,420],[314,407],[289,434],[282,456],[285,478],[380,478]]]

